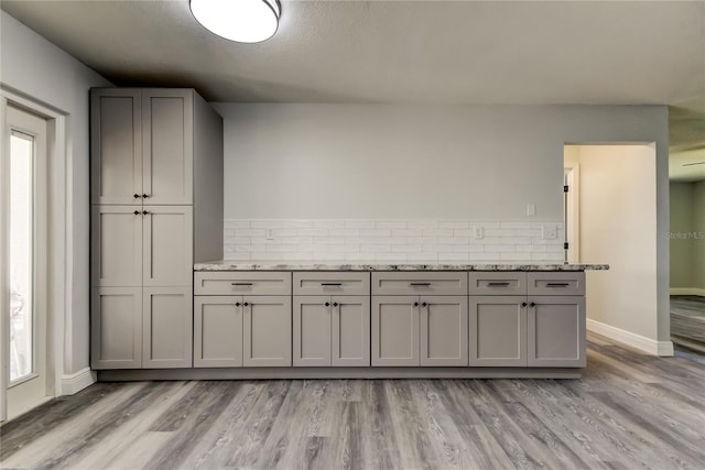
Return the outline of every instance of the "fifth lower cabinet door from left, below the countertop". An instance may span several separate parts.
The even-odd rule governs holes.
[[[417,296],[372,296],[372,365],[419,365]]]

